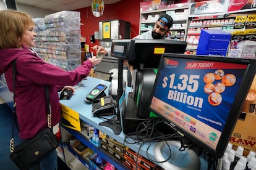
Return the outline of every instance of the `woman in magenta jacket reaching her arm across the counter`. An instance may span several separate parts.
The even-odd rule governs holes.
[[[30,139],[46,128],[45,86],[49,86],[52,126],[59,123],[61,109],[58,90],[74,86],[87,77],[90,69],[101,62],[92,57],[72,71],[65,71],[44,62],[35,47],[35,25],[30,15],[15,10],[0,10],[0,74],[13,92],[12,65],[16,60],[15,102],[21,139]],[[79,56],[80,57],[80,56]],[[56,151],[41,160],[41,169],[57,169]]]

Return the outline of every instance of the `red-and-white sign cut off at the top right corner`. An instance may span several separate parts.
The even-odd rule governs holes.
[[[229,0],[228,12],[246,12],[255,9],[256,2],[252,0]]]

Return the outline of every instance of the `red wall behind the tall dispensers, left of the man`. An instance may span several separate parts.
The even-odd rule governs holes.
[[[98,44],[98,40],[95,44],[90,43],[90,36],[94,34],[94,31],[99,30],[99,22],[104,20],[124,20],[131,24],[131,38],[139,34],[140,24],[140,2],[143,0],[122,0],[114,4],[105,4],[105,9],[101,17],[95,17],[92,14],[92,8],[86,7],[77,9],[80,12],[81,18],[81,36],[86,38],[86,44],[94,46]]]

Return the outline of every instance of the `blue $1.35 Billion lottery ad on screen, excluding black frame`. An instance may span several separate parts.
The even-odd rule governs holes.
[[[247,65],[165,58],[150,107],[216,148]]]

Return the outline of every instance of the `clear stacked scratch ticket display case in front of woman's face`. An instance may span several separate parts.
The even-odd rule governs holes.
[[[81,64],[80,12],[64,10],[33,21],[37,34],[34,50],[41,59],[64,70]]]

